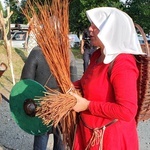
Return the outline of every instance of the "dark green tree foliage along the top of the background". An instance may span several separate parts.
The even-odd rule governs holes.
[[[11,23],[27,23],[20,7],[24,8],[27,0],[21,1],[21,6],[17,5],[17,0],[5,0],[5,4],[13,11]],[[45,3],[52,0],[33,0]],[[70,32],[80,33],[87,28],[90,23],[86,17],[86,11],[95,7],[116,7],[127,12],[134,22],[142,26],[145,32],[150,32],[150,0],[126,0],[123,4],[120,0],[70,0],[69,24]],[[1,9],[0,3],[0,9]]]

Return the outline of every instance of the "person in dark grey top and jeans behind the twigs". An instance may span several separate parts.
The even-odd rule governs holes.
[[[77,68],[74,55],[70,52],[70,72],[71,80],[77,80]],[[39,82],[43,86],[47,86],[51,89],[60,90],[56,79],[52,75],[49,66],[45,60],[42,50],[39,46],[33,48],[30,52],[25,65],[22,70],[21,79],[32,79]],[[48,133],[41,136],[34,136],[34,150],[46,150],[49,134],[54,136],[53,150],[64,150],[64,145],[61,139],[61,132],[59,127],[53,128]]]

